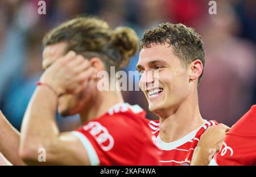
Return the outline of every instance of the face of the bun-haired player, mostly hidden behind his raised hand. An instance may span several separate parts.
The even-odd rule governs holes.
[[[53,64],[53,62],[60,60],[60,58],[66,53],[66,49],[67,43],[65,42],[47,45],[43,51],[43,69],[46,70]],[[80,94],[65,94],[60,96],[57,108],[60,115],[75,115],[83,111],[86,104],[88,104],[92,99],[92,95],[94,95],[94,86],[96,86],[96,84],[90,80],[88,87],[86,87],[86,89]]]

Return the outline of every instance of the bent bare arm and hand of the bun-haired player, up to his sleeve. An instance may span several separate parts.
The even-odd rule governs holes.
[[[71,90],[79,88],[76,82],[81,81],[77,79],[77,73],[69,70],[76,68],[76,65],[82,69],[75,57],[68,53],[65,58],[58,59],[60,61],[52,64],[40,81],[51,85],[58,95],[63,94],[65,86],[73,87]],[[90,74],[84,73],[85,78]],[[86,80],[85,78],[81,79]],[[28,165],[90,165],[88,154],[80,140],[71,132],[59,132],[55,121],[57,102],[58,98],[50,88],[36,88],[22,123],[20,156]],[[46,151],[46,162],[38,161],[38,150],[41,148]]]

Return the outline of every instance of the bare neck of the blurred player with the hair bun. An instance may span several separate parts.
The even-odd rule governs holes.
[[[115,104],[123,103],[120,91],[99,91],[94,96],[93,102],[80,113],[81,123],[96,119],[113,107]]]

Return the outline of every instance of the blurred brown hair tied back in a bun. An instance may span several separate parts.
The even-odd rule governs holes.
[[[138,37],[131,28],[112,30],[108,23],[95,17],[79,17],[68,20],[49,31],[43,39],[43,47],[62,41],[68,43],[66,52],[73,50],[87,59],[99,57],[106,70],[110,66],[125,67],[138,49]]]

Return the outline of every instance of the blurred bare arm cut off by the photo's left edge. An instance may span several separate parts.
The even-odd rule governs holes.
[[[24,165],[19,157],[19,132],[0,111],[0,151],[13,165]]]

